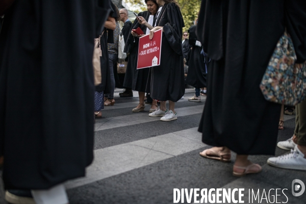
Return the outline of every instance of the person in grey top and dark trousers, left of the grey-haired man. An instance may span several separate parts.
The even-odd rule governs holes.
[[[108,39],[110,39],[110,37],[113,37],[113,42],[110,42],[110,40],[108,40],[109,68],[110,68],[110,77],[111,77],[110,93],[105,94],[104,96],[104,106],[113,106],[115,104],[115,99],[114,99],[114,91],[116,84],[115,81],[117,80],[117,82],[119,82],[117,74],[117,60],[118,60],[118,42],[120,35],[120,25],[119,25],[120,14],[116,5],[114,5],[114,8],[117,13],[117,18],[115,18],[116,28],[113,32],[113,35],[110,32],[108,32]]]

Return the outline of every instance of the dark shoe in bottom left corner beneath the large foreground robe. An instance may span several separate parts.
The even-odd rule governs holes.
[[[35,204],[32,193],[30,190],[7,190],[5,193],[5,199],[9,203],[18,204]]]

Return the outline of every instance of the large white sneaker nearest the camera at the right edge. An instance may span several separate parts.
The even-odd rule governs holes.
[[[294,147],[294,150],[291,149],[291,152],[287,155],[269,158],[268,164],[283,169],[297,169],[306,171],[306,159],[297,146]]]

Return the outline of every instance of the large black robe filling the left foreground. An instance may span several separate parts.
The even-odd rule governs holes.
[[[0,155],[9,189],[48,189],[93,160],[93,39],[109,2],[16,0],[0,34]],[[95,18],[97,16],[98,18]]]

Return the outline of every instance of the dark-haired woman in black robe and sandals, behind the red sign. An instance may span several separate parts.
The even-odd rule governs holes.
[[[138,16],[142,16],[147,21],[151,21],[151,24],[154,24],[156,21],[156,13],[158,10],[158,4],[155,0],[145,0],[147,5],[147,11],[140,12]],[[132,26],[133,29],[141,28],[143,33],[147,33],[147,28],[145,25],[141,25],[137,20],[134,21]],[[148,34],[148,33],[147,33]],[[146,83],[149,75],[149,69],[137,69],[137,57],[138,57],[138,44],[139,37],[133,31],[129,35],[126,40],[124,52],[130,53],[129,61],[126,67],[126,73],[124,78],[123,86],[127,88],[131,88],[134,91],[138,91],[139,93],[139,105],[134,108],[133,112],[144,111],[144,95],[146,91]],[[157,101],[152,102],[152,106],[149,112],[153,112],[157,109]]]

